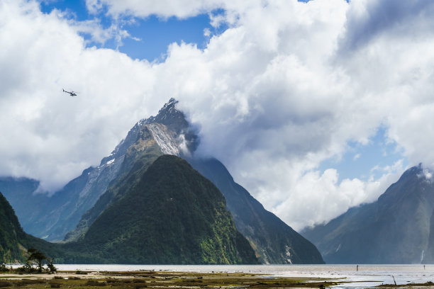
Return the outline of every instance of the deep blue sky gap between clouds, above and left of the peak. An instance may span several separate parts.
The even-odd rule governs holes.
[[[101,11],[96,16],[90,15],[84,0],[42,1],[40,7],[43,13],[50,13],[54,8],[65,11],[75,21],[86,21],[96,17],[103,28],[109,28],[113,24],[113,19],[106,16],[106,11]],[[224,10],[216,9],[211,13],[216,16],[224,13]],[[130,38],[123,38],[121,45],[114,38],[106,40],[104,43],[98,43],[91,41],[91,35],[84,33],[82,37],[87,40],[89,47],[110,48],[126,53],[133,59],[146,59],[152,62],[165,60],[167,48],[173,42],[178,44],[182,42],[193,43],[199,49],[204,49],[210,36],[221,34],[228,28],[224,24],[218,28],[213,28],[208,13],[187,19],[176,17],[162,19],[157,16],[149,16],[129,20],[131,21],[126,19],[123,23],[117,23],[118,25],[121,24],[120,28],[128,31],[130,35]],[[205,30],[208,30],[211,35],[206,35]]]

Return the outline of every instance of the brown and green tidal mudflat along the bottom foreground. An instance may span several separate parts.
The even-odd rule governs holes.
[[[177,271],[59,271],[56,274],[0,274],[0,288],[328,288],[337,280],[288,278],[252,273]]]

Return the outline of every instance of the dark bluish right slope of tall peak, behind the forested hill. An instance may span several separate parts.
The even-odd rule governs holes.
[[[262,263],[324,263],[311,242],[265,210],[233,181],[217,159],[189,159],[189,162],[223,193],[237,229],[252,244]]]

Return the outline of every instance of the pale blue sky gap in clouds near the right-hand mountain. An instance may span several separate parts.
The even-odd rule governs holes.
[[[377,133],[362,145],[360,142],[347,142],[347,151],[341,157],[332,157],[321,163],[320,171],[336,169],[339,181],[343,179],[360,179],[367,181],[371,176],[378,179],[384,174],[382,168],[391,166],[403,160],[403,166],[408,160],[401,153],[396,142],[386,137],[386,128],[380,127]]]

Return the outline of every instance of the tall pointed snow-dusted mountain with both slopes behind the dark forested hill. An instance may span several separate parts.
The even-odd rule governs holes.
[[[235,226],[262,263],[323,263],[315,246],[265,210],[233,181],[223,165],[191,157],[199,139],[184,114],[177,110],[176,103],[172,98],[155,117],[136,123],[100,166],[85,170],[52,199],[48,198],[44,210],[35,208],[35,214],[21,220],[26,224],[24,228],[29,232],[39,230],[36,234],[39,237],[48,234],[48,239],[63,238],[70,231],[65,237],[67,241],[80,240],[105,210],[126,198],[126,188],[133,189],[134,180],[140,179],[138,176],[143,175],[155,159],[162,154],[173,154],[187,159],[202,174],[211,173],[207,177],[225,196]],[[31,193],[28,196],[39,198]],[[23,206],[19,202],[12,205]]]

